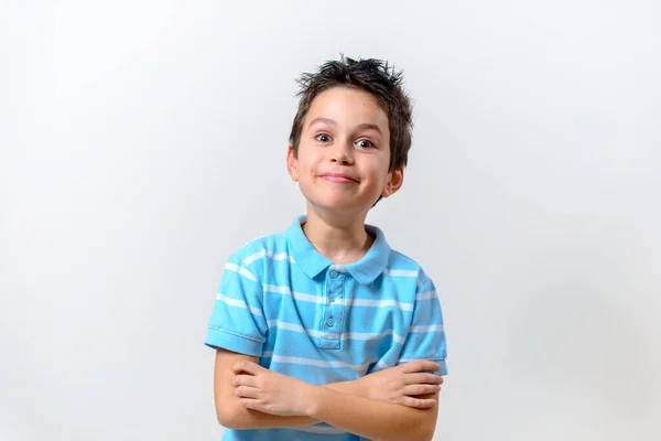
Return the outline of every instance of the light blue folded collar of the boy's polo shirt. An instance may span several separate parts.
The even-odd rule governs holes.
[[[290,251],[296,265],[310,277],[314,279],[322,271],[327,269],[333,261],[319,254],[307,240],[301,225],[305,223],[307,216],[297,216],[284,233],[290,246]],[[379,277],[388,265],[390,258],[390,245],[386,241],[383,232],[373,225],[365,225],[367,232],[375,237],[375,241],[367,254],[358,261],[345,265],[346,270],[360,284],[369,284]]]

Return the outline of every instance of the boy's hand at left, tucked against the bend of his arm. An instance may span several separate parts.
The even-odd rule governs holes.
[[[314,385],[243,361],[234,365],[231,385],[241,406],[283,417],[307,416]]]

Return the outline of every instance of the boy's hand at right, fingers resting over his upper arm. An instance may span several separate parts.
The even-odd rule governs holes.
[[[425,373],[425,370],[436,372],[440,368],[441,366],[435,362],[416,359],[366,375],[356,381],[367,398],[427,409],[433,407],[436,400],[416,398],[416,396],[436,394],[441,390],[443,377]]]

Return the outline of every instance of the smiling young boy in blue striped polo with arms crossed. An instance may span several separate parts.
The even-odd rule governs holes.
[[[304,74],[286,164],[307,213],[228,260],[205,344],[224,440],[431,440],[447,374],[432,280],[369,209],[402,185],[411,104],[378,60]]]

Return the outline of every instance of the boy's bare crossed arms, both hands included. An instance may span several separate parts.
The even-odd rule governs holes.
[[[431,440],[443,378],[415,361],[351,381],[315,386],[259,366],[258,358],[216,351],[218,422],[230,429],[294,428],[326,422],[378,441]]]

